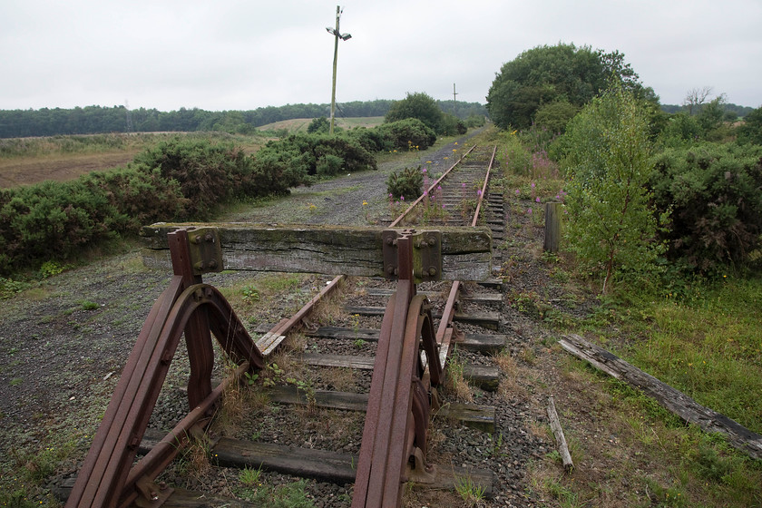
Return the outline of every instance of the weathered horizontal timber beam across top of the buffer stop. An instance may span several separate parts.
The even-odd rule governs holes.
[[[216,228],[225,269],[384,276],[382,230],[346,226],[160,222],[141,231],[145,239],[142,259],[147,267],[171,268],[167,233],[181,228]],[[436,230],[442,232],[443,280],[490,277],[492,239],[488,229]]]

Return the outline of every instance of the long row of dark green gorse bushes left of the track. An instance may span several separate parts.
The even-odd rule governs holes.
[[[220,203],[271,194],[339,172],[376,169],[372,152],[424,150],[436,140],[418,120],[337,136],[291,135],[254,156],[232,143],[160,142],[126,168],[75,181],[0,190],[0,275],[72,259],[105,239],[159,220],[209,220]]]

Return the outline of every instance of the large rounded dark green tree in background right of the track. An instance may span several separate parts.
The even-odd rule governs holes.
[[[643,90],[624,54],[574,44],[537,46],[503,64],[487,93],[487,110],[503,129],[525,129],[546,103],[580,108],[607,87],[611,75],[631,91]]]

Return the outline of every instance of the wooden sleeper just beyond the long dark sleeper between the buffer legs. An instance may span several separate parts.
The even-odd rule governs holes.
[[[309,396],[296,386],[273,386],[268,390],[271,402],[279,404],[308,405],[346,411],[366,411],[367,394],[316,390]],[[310,400],[310,398],[312,400]],[[452,403],[436,412],[438,417],[457,420],[466,426],[483,432],[494,432],[494,406]]]

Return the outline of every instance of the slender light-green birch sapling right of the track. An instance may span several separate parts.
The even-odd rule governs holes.
[[[565,136],[572,146],[569,239],[583,266],[605,270],[605,293],[617,271],[647,272],[662,250],[645,187],[652,171],[647,112],[615,82]]]

